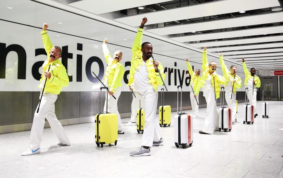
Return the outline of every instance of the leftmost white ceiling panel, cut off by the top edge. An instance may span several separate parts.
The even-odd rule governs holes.
[[[94,14],[103,14],[107,12],[130,9],[132,7],[145,6],[149,4],[156,4],[166,1],[168,0],[151,0],[151,1],[123,0],[122,2],[113,1],[113,0],[103,0],[103,1],[82,0],[82,1],[71,2],[68,5]]]

